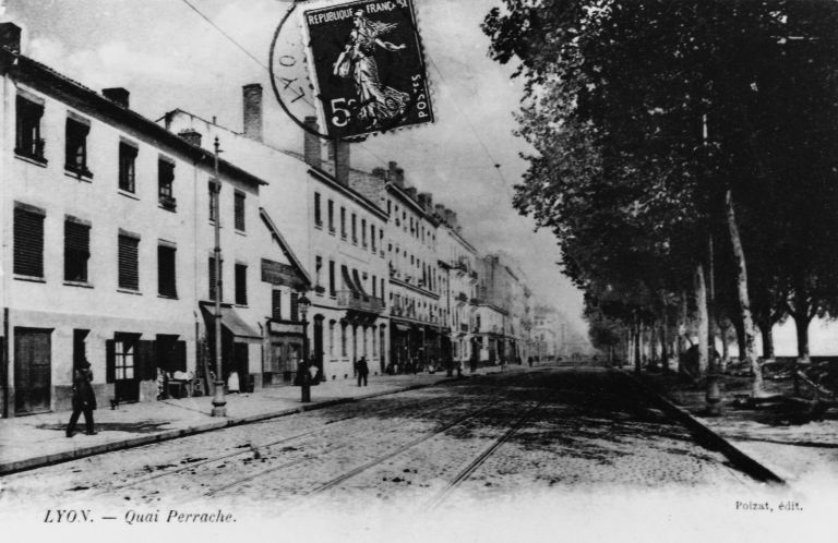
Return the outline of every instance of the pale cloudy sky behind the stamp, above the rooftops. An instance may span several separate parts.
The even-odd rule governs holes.
[[[191,3],[220,31],[201,17]],[[579,331],[582,294],[561,275],[549,231],[512,207],[526,170],[513,135],[523,82],[488,56],[479,28],[500,0],[415,0],[436,122],[352,146],[352,166],[396,160],[406,181],[458,213],[481,252],[504,251],[524,270],[536,303],[555,306]],[[241,130],[241,86],[265,89],[265,138],[294,150],[302,133],[271,93],[265,70],[288,0],[0,0],[24,31],[23,52],[100,90],[125,87],[131,108],[156,120],[180,108]],[[225,34],[227,36],[225,36]],[[238,45],[237,45],[238,44]],[[247,51],[247,53],[243,51]],[[495,167],[500,165],[500,167]]]

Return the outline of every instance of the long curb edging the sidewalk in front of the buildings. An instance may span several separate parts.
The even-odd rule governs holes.
[[[489,374],[487,373],[471,374],[468,377],[482,377],[486,375],[489,375]],[[466,377],[464,376],[464,378]],[[292,414],[299,414],[307,411],[316,411],[319,409],[325,409],[328,407],[339,406],[343,403],[351,403],[354,401],[361,401],[366,399],[378,398],[380,396],[387,396],[391,394],[406,393],[409,390],[417,390],[420,388],[427,388],[431,386],[443,385],[450,382],[458,382],[458,381],[462,381],[462,379],[457,377],[444,376],[443,378],[440,378],[439,381],[435,381],[433,383],[402,386],[402,387],[393,388],[390,390],[383,390],[380,393],[372,393],[372,394],[367,394],[362,396],[335,398],[335,399],[323,400],[323,401],[313,401],[311,403],[302,405],[297,408],[283,409],[282,411],[259,413],[250,417],[227,419],[225,421],[218,421],[218,422],[207,422],[204,424],[199,424],[195,426],[189,426],[189,427],[179,429],[179,430],[165,430],[163,432],[158,432],[155,434],[127,437],[125,439],[121,439],[118,442],[103,443],[99,445],[91,445],[87,447],[81,447],[73,450],[67,450],[63,452],[55,452],[51,455],[26,458],[24,460],[15,460],[12,462],[5,462],[0,464],[0,476],[17,473],[21,471],[27,471],[36,468],[53,466],[57,463],[69,462],[72,460],[77,460],[80,458],[101,455],[105,452],[113,452],[115,450],[124,450],[124,449],[134,448],[134,447],[142,447],[143,445],[151,445],[153,443],[159,443],[159,442],[168,442],[171,439],[187,437],[190,435],[203,434],[205,432],[213,432],[215,430],[223,430],[223,429],[232,427],[232,426],[242,426],[244,424],[262,422],[268,419],[279,419],[282,417],[289,417]]]

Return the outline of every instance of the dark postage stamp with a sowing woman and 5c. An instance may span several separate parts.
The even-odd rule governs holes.
[[[321,126],[355,137],[433,122],[412,0],[361,0],[304,10]]]

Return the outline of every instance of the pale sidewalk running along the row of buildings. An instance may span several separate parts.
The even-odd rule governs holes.
[[[504,372],[523,367],[507,366]],[[481,367],[471,375],[500,371],[500,366]],[[468,375],[464,373],[464,377]],[[94,411],[98,434],[84,434],[82,415],[71,438],[64,436],[70,411],[0,419],[0,475],[452,379],[455,377],[447,377],[443,372],[371,376],[367,387],[359,387],[355,379],[332,381],[311,387],[310,403],[300,401],[299,387],[267,387],[253,394],[228,395],[229,417],[220,419],[210,414],[210,396],[125,403],[116,410],[100,407]]]

